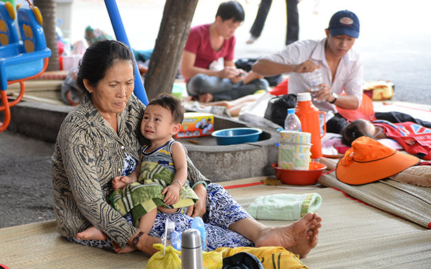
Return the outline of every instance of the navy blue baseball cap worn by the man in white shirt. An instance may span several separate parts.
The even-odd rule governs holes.
[[[347,34],[357,39],[359,36],[359,19],[355,13],[341,10],[330,18],[328,30],[331,36]]]

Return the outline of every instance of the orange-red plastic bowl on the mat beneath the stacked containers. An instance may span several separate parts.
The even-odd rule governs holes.
[[[322,174],[322,171],[326,169],[325,164],[319,162],[310,162],[308,170],[288,170],[281,169],[277,166],[277,162],[271,164],[275,170],[275,177],[284,184],[291,185],[311,185],[315,184],[317,178]]]

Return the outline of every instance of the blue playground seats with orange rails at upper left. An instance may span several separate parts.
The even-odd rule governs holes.
[[[19,103],[25,92],[24,80],[40,76],[48,66],[51,50],[46,47],[43,34],[43,19],[39,9],[28,1],[29,6],[17,6],[17,19],[21,41],[15,28],[15,12],[10,2],[0,2],[0,111],[5,118],[0,122],[0,132],[10,122],[10,107]],[[12,83],[19,83],[19,96],[9,102],[6,89]]]

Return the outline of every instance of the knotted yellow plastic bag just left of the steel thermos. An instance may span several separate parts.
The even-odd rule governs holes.
[[[151,256],[147,263],[147,269],[160,269],[160,268],[170,268],[170,269],[181,269],[181,251],[167,246],[165,250],[165,255],[163,255],[163,249],[165,248],[162,244],[154,244],[153,248],[160,251],[156,252]]]

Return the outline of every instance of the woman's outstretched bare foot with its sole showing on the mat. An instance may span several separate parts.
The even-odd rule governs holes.
[[[322,218],[317,214],[308,213],[288,226],[264,227],[254,242],[255,246],[282,246],[305,257],[317,245],[321,222]]]

